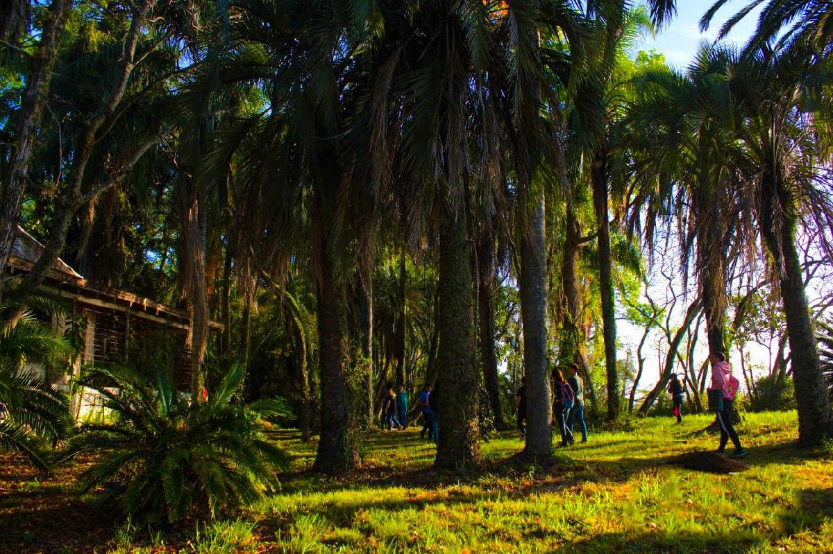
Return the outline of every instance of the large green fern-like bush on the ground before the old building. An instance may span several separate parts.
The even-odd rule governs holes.
[[[83,425],[68,445],[68,457],[101,454],[82,474],[82,494],[103,487],[103,502],[122,502],[128,516],[152,523],[214,517],[274,490],[284,457],[263,435],[262,418],[289,410],[280,400],[233,403],[243,374],[233,365],[207,402],[192,404],[166,370],[149,379],[123,366],[93,369],[85,384],[115,418]]]

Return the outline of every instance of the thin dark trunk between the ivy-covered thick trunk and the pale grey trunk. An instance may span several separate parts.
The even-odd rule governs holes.
[[[501,405],[501,391],[497,382],[497,355],[495,353],[495,313],[491,307],[491,296],[495,291],[495,240],[491,226],[481,233],[477,253],[477,316],[480,322],[480,354],[483,364],[483,383],[489,393],[491,413],[495,427],[506,429],[506,418]]]

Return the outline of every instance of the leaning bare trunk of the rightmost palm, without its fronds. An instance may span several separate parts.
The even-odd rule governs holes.
[[[801,259],[796,249],[796,216],[789,213],[793,208],[786,186],[774,181],[771,178],[762,192],[761,227],[767,250],[781,271],[781,302],[786,315],[792,378],[796,385],[798,441],[801,445],[811,446],[833,436],[830,400],[804,292]],[[783,214],[781,221],[774,218],[776,208]]]

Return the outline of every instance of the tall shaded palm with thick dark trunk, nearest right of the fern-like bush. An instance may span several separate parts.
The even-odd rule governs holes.
[[[352,117],[366,78],[357,47],[367,36],[357,31],[364,28],[361,18],[354,22],[336,8],[233,2],[232,32],[189,93],[198,104],[217,82],[225,90],[257,91],[250,108],[217,132],[204,174],[236,181],[233,235],[241,263],[282,279],[292,265],[310,261],[322,393],[315,467],[325,472],[358,461],[353,398],[367,386],[366,378],[352,378],[347,345],[347,279],[362,240],[347,206],[357,197],[352,183],[367,166],[357,161],[362,125],[353,131]]]

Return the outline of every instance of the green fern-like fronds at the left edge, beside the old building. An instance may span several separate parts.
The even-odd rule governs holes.
[[[72,427],[67,395],[47,383],[36,368],[62,363],[70,345],[37,319],[62,305],[46,289],[22,294],[10,290],[0,306],[0,448],[22,454],[41,470],[51,466],[51,447]]]

